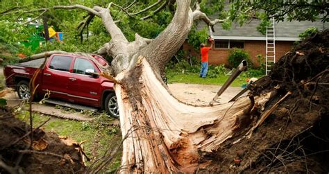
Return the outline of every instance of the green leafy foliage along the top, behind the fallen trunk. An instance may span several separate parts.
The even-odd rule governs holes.
[[[198,0],[199,1],[199,0]],[[173,0],[153,0],[153,1],[111,1],[112,17],[117,21],[117,26],[121,28],[128,41],[135,40],[135,33],[142,37],[155,38],[161,33],[171,21],[175,1]],[[53,6],[69,6],[81,4],[92,7],[94,5],[106,7],[110,1],[96,0],[64,0],[64,1],[1,1],[0,6],[0,42],[17,44],[26,40],[31,31],[24,25],[28,24],[28,19],[32,22],[42,21],[42,17],[47,17],[49,26],[54,26],[56,31],[65,33],[65,44],[49,44],[47,48],[41,48],[34,53],[42,51],[61,49],[65,51],[87,51],[93,52],[99,49],[102,43],[108,42],[110,37],[106,28],[101,24],[101,19],[91,17],[84,10],[52,9]],[[286,20],[309,20],[320,19],[328,21],[327,1],[240,1],[240,0],[202,0],[199,1],[202,12],[218,19],[224,19],[224,28],[230,28],[232,21],[239,24],[250,19],[262,19],[260,31],[269,24],[269,17],[276,17],[276,21]],[[195,6],[196,1],[192,1],[191,6]],[[49,10],[44,10],[49,8]],[[85,23],[83,23],[85,22]],[[78,28],[78,26],[81,26]],[[78,29],[77,29],[78,28]],[[15,32],[12,32],[15,31]],[[196,31],[192,28],[189,33],[189,43],[194,47],[205,42],[208,28]],[[81,37],[88,35],[87,40]],[[81,41],[79,41],[81,40]],[[27,55],[32,54],[28,49],[21,48]]]

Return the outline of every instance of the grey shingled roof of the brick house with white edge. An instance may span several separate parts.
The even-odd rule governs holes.
[[[224,30],[221,24],[214,26],[214,39],[221,40],[266,40],[266,35],[257,31],[260,20],[254,19],[243,26],[233,23],[230,30]],[[276,31],[276,40],[278,41],[296,41],[300,38],[298,35],[307,28],[317,27],[320,31],[329,28],[329,24],[321,21],[280,21],[274,24]],[[206,24],[199,22],[198,28],[206,27]]]

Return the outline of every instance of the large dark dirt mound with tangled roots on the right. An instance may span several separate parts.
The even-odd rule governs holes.
[[[235,132],[215,152],[205,155],[216,173],[328,173],[329,171],[329,31],[312,35],[282,56],[271,71],[271,84],[261,93],[275,92],[260,118],[287,92],[250,138]],[[255,92],[257,94],[259,92]],[[239,141],[237,141],[239,140]]]

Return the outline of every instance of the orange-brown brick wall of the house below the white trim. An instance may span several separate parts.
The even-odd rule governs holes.
[[[290,49],[294,42],[290,41],[276,41],[276,60],[285,55]],[[266,42],[265,41],[254,41],[246,40],[244,42],[244,50],[251,56],[251,62],[255,66],[259,66],[258,58],[256,55],[261,54],[265,57],[266,54]],[[230,49],[213,49],[209,51],[209,64],[226,64],[228,65],[228,54]]]

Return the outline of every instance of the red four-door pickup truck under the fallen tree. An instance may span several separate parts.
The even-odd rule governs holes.
[[[43,62],[44,59],[37,59],[6,66],[3,69],[6,86],[15,89],[19,98],[30,98],[28,83]],[[107,66],[108,62],[100,55],[51,55],[35,78],[35,85],[39,84],[35,96],[40,98],[50,92],[50,98],[98,107],[119,117],[114,83],[100,76]]]

